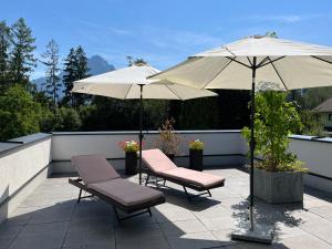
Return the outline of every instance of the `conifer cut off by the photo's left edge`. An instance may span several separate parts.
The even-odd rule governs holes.
[[[9,84],[9,49],[11,45],[11,32],[6,21],[0,22],[0,89]]]

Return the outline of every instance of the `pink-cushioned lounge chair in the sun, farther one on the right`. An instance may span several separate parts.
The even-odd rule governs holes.
[[[208,194],[211,197],[210,189],[222,187],[225,179],[207,173],[196,172],[193,169],[177,167],[162,151],[147,149],[142,152],[142,159],[147,167],[147,178],[145,185],[149,184],[151,175],[162,178],[164,185],[166,180],[181,185],[188,200],[191,198]],[[156,186],[158,180],[156,179]],[[189,195],[187,188],[197,191],[204,191],[198,195]]]

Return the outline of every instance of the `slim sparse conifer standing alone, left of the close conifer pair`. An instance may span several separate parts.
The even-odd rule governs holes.
[[[42,58],[41,62],[46,66],[46,93],[52,96],[53,104],[56,106],[61,83],[59,77],[59,46],[53,39],[48,43],[46,51],[42,54]]]

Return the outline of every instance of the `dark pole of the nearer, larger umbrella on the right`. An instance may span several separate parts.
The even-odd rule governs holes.
[[[253,159],[255,159],[255,84],[256,84],[256,56],[252,61],[252,85],[251,85],[251,118],[250,118],[250,197],[249,197],[249,220],[250,230],[253,230]]]

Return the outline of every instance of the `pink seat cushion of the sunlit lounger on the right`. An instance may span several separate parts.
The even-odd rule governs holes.
[[[195,184],[205,188],[212,187],[225,181],[222,177],[183,167],[163,172],[160,175],[180,181]]]

